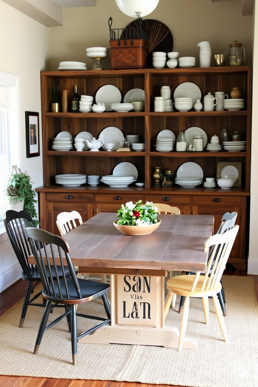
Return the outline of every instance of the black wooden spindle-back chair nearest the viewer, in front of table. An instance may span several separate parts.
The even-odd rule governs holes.
[[[48,231],[31,227],[25,229],[25,235],[31,245],[32,252],[36,260],[41,282],[43,284],[42,295],[46,299],[46,307],[39,325],[34,354],[38,353],[44,331],[66,317],[68,329],[69,332],[71,332],[72,361],[73,365],[76,365],[77,340],[87,334],[91,334],[103,325],[110,323],[110,305],[106,296],[106,293],[110,290],[110,286],[102,282],[90,280],[85,281],[84,279],[77,278],[69,255],[69,246],[61,236],[53,235]],[[45,260],[43,256],[46,257],[46,262],[50,262],[53,259],[54,265],[56,265],[56,262],[61,262],[63,270],[65,268],[65,262],[65,265],[69,268],[70,276],[63,277],[62,279],[57,278],[56,282],[54,282],[53,277],[46,274]],[[104,309],[107,315],[106,318],[76,312],[76,304],[86,303],[100,296],[103,300]],[[48,322],[52,303],[65,307],[65,312],[47,326],[46,324]],[[99,320],[101,323],[94,325],[91,329],[77,337],[77,316],[85,317],[91,320]]]

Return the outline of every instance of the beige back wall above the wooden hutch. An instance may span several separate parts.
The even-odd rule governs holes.
[[[62,27],[50,27],[50,65],[75,60],[86,62],[91,68],[93,60],[85,49],[92,46],[109,47],[109,16],[112,28],[124,28],[134,19],[123,14],[115,0],[97,0],[96,7],[67,8],[63,10]],[[229,43],[238,40],[246,51],[245,64],[252,64],[252,16],[242,16],[242,0],[212,2],[211,0],[160,0],[152,14],[144,19],[157,19],[166,24],[174,39],[174,51],[180,56],[196,57],[197,44],[208,40],[212,52],[223,53]],[[107,58],[104,67],[109,68]]]

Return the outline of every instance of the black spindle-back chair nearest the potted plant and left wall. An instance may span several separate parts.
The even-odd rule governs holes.
[[[24,235],[24,229],[27,226],[34,227],[34,225],[32,217],[30,216],[30,214],[28,214],[27,211],[17,212],[13,210],[6,211],[3,223],[5,225],[5,229],[11,242],[12,248],[14,249],[19,264],[21,265],[22,279],[24,281],[28,281],[28,286],[22,306],[21,320],[19,324],[19,327],[22,328],[27,312],[27,307],[29,305],[36,307],[46,306],[44,299],[43,303],[33,302],[42,294],[42,291],[39,291],[31,298],[31,295],[34,293],[34,288],[39,282],[41,282],[41,278],[36,265],[30,265],[28,263],[28,257],[32,255],[32,252]],[[70,274],[68,268],[65,268],[63,272],[61,267],[57,267],[55,271],[55,268],[51,266],[50,270],[53,274],[54,280],[56,280],[56,275],[59,277],[63,277],[63,275],[67,276]]]

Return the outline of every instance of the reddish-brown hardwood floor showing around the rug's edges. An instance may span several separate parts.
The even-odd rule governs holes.
[[[244,271],[234,271],[229,267],[224,274],[235,276],[246,276]],[[258,300],[258,276],[253,276],[255,282],[256,298]],[[223,279],[223,277],[222,277]],[[27,287],[26,281],[22,279],[10,286],[0,294],[0,316],[8,309],[19,302],[25,294]],[[151,387],[153,384],[112,382],[110,380],[70,380],[70,379],[50,379],[50,378],[32,378],[19,376],[1,376],[0,386],[3,387]],[[159,385],[168,387],[168,385]],[[170,386],[174,387],[174,386]]]

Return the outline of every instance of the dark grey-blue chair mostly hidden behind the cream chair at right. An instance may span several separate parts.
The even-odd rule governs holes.
[[[236,223],[236,217],[237,217],[237,212],[235,212],[235,211],[231,212],[231,213],[226,212],[221,218],[221,222],[220,222],[220,225],[216,231],[216,234],[223,234],[224,232],[233,228],[235,223]],[[210,251],[209,257],[210,257],[210,255],[211,255],[211,251]],[[208,260],[209,260],[209,257],[208,257]],[[195,274],[195,272],[186,272],[185,274],[188,274],[188,275]],[[226,315],[227,315],[226,307],[225,307],[226,300],[225,300],[225,293],[224,293],[221,279],[220,279],[220,283],[221,283],[221,291],[218,293],[218,298],[219,298],[219,303],[220,303],[223,315],[226,317]],[[181,296],[178,313],[182,312],[184,300],[185,300],[185,297]]]

